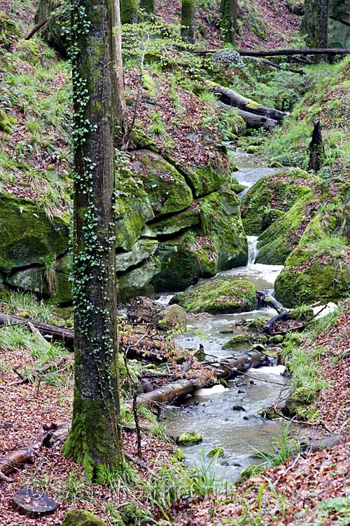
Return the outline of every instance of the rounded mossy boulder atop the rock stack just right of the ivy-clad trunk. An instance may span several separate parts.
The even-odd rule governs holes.
[[[193,195],[181,173],[160,155],[137,150],[132,155],[132,172],[137,173],[151,201],[155,217],[188,208]]]

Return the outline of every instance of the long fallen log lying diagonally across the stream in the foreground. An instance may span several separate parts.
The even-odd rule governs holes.
[[[218,378],[228,378],[245,372],[250,367],[260,367],[269,363],[269,357],[260,351],[249,351],[237,357],[217,362],[207,362],[205,374],[190,379],[179,379],[166,386],[144,393],[137,397],[137,407],[141,405],[160,405],[171,403],[177,398],[193,393],[196,389],[212,384]],[[131,407],[130,403],[128,407]]]

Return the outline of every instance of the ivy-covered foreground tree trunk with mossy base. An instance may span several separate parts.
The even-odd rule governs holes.
[[[115,223],[118,0],[73,2],[75,389],[64,454],[103,483],[123,466]],[[121,96],[121,95],[120,95]]]

